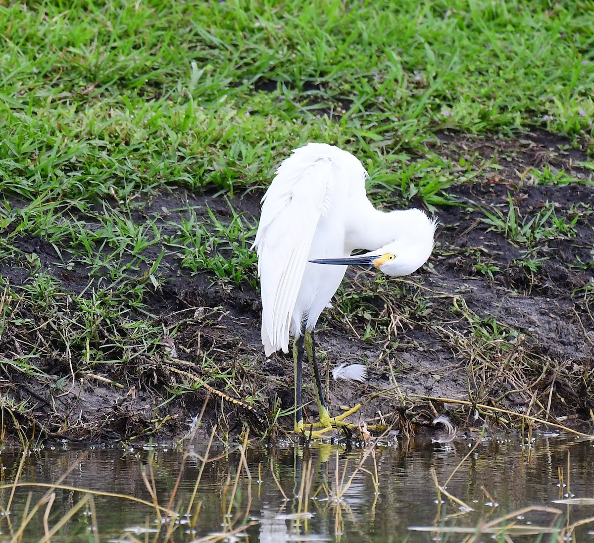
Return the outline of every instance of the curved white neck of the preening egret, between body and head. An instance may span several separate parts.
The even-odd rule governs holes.
[[[366,204],[349,219],[345,247],[348,254],[355,249],[373,251],[410,233],[410,210],[386,212],[375,209],[369,201]]]

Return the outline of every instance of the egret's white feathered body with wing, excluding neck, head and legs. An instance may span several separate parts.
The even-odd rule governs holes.
[[[288,351],[304,321],[312,327],[345,274],[312,258],[345,254],[349,202],[365,196],[366,172],[347,151],[309,143],[293,151],[262,200],[254,242],[262,291],[266,355]]]

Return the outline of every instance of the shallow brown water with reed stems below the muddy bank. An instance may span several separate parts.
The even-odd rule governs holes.
[[[564,529],[566,541],[594,536],[594,519],[571,529],[594,517],[592,503],[554,503],[594,498],[593,442],[571,435],[537,436],[528,444],[519,436],[484,438],[478,445],[464,437],[447,444],[397,441],[350,451],[326,444],[252,445],[245,455],[241,447],[213,444],[204,463],[206,450],[207,444],[188,447],[189,454],[170,446],[59,445],[31,452],[24,462],[20,452],[4,451],[0,541],[21,528],[22,541],[37,541],[61,521],[51,541],[165,541],[168,530],[170,541],[209,535],[208,541],[461,541],[469,537],[463,531],[472,536],[477,526],[486,533],[476,541],[490,541],[503,525],[513,541],[534,541],[534,535],[519,535],[526,530],[545,533],[543,541]],[[56,484],[66,475],[53,501],[39,504],[52,489],[17,487],[11,500],[17,473],[20,483],[36,484]],[[444,493],[437,500],[433,474],[440,485],[449,479],[447,493],[458,503]],[[152,503],[147,484],[159,506],[182,515],[177,522],[168,522],[166,512],[159,519],[149,504],[73,490]],[[540,509],[520,512],[535,506]]]

